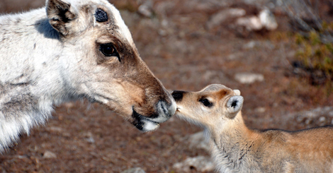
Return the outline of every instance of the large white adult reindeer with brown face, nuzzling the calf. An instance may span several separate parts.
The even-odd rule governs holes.
[[[141,131],[176,109],[108,1],[48,0],[46,11],[0,16],[0,151],[44,124],[52,105],[81,98]]]

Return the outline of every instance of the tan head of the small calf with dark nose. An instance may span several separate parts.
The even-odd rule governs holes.
[[[212,84],[199,92],[174,91],[176,115],[196,124],[215,126],[234,119],[243,105],[239,90]]]

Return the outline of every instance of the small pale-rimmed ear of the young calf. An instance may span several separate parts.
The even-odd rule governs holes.
[[[232,119],[242,108],[244,98],[240,95],[232,96],[227,101],[227,117]]]

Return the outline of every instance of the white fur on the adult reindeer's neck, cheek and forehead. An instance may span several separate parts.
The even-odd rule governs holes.
[[[110,69],[96,64],[94,44],[98,36],[94,32],[101,24],[95,22],[91,27],[93,17],[86,16],[80,7],[88,4],[108,8],[118,26],[115,32],[123,37],[119,39],[136,49],[119,11],[106,0],[64,2],[77,15],[77,24],[70,26],[77,33],[67,40],[61,40],[52,28],[45,8],[0,16],[0,152],[17,141],[20,133],[29,133],[31,127],[44,124],[51,116],[52,105],[65,101],[85,97],[120,114],[132,114],[134,103],[124,103],[132,102],[132,97],[121,93],[125,90],[121,83],[111,87],[117,82]],[[159,87],[163,88],[162,84]],[[171,102],[170,110],[174,112],[176,106]],[[166,119],[169,117],[163,121]],[[157,126],[149,124],[146,129]]]

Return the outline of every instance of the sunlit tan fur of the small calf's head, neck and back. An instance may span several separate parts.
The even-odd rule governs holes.
[[[203,106],[198,102],[201,97],[214,106]],[[227,106],[230,98],[237,100],[235,107]],[[176,103],[177,116],[196,121],[209,132],[218,172],[333,172],[332,126],[303,131],[248,129],[239,90],[224,85],[186,92]]]

